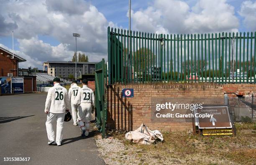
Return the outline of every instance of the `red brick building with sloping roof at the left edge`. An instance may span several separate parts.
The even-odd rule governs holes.
[[[8,76],[8,73],[12,73],[12,76],[18,76],[19,62],[26,61],[24,58],[17,56],[13,53],[0,47],[0,76]]]

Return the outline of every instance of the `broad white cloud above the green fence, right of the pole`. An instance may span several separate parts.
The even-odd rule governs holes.
[[[238,31],[234,7],[226,0],[199,0],[195,6],[181,0],[156,0],[132,13],[133,29],[155,33],[210,33]]]

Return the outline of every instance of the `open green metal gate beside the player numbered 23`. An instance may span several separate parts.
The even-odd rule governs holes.
[[[107,86],[107,65],[102,59],[95,64],[95,124],[102,133],[102,138],[106,135],[107,122],[107,102],[106,102],[106,86]]]

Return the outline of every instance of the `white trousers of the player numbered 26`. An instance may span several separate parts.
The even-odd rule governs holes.
[[[57,144],[61,143],[64,117],[65,117],[65,112],[64,113],[51,113],[51,112],[48,113],[45,125],[46,125],[46,131],[47,131],[49,142],[55,141],[53,123],[57,121],[55,142]]]

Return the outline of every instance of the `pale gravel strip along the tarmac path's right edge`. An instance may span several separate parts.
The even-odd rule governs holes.
[[[170,150],[170,155],[162,156],[156,152],[147,152],[138,149],[136,145],[125,145],[123,140],[109,137],[106,139],[96,139],[98,151],[102,155],[105,163],[108,165],[138,165],[138,164],[218,164],[218,165],[236,165],[236,163],[212,155],[174,155],[175,149]],[[152,145],[154,147],[154,145]]]

